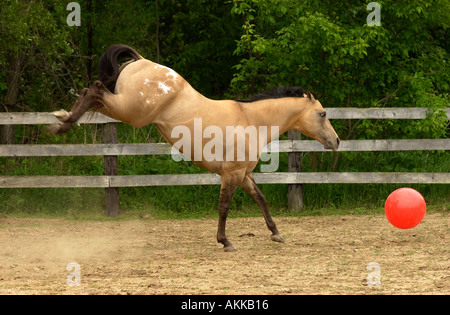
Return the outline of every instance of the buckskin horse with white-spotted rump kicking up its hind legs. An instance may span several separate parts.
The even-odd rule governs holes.
[[[119,66],[119,61],[124,58],[131,60]],[[238,146],[239,141],[219,139],[216,142],[215,153],[223,154],[221,159],[206,158],[194,152],[195,148],[205,149],[205,139],[196,143],[191,139],[190,146],[178,148],[184,155],[196,157],[192,159],[195,163],[221,177],[217,242],[226,252],[236,250],[226,236],[225,226],[230,202],[238,186],[261,209],[267,228],[272,232],[271,240],[284,243],[269,214],[266,199],[252,176],[263,147],[250,143],[248,130],[256,131],[257,143],[270,143],[278,134],[288,130],[298,130],[333,151],[338,149],[340,142],[322,104],[309,91],[282,88],[245,101],[212,100],[197,92],[171,68],[145,59],[126,45],[113,45],[104,52],[99,59],[99,80],[80,92],[70,112],[53,112],[62,124],[51,125],[48,131],[53,134],[67,132],[87,110],[100,112],[136,128],[153,123],[171,145],[180,138],[179,133],[173,132],[180,126],[191,135],[212,126],[213,130],[222,130],[222,134],[226,133],[227,126],[242,126],[234,130],[233,137],[247,140],[244,146]],[[196,124],[199,119],[200,127]],[[264,130],[262,127],[268,126],[278,128],[278,134],[261,132]],[[209,137],[212,135],[210,132]],[[234,154],[227,156],[230,150]],[[251,151],[256,158],[251,158]],[[242,153],[240,159],[236,159],[237,153]]]

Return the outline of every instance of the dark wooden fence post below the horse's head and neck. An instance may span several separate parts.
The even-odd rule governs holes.
[[[300,131],[288,131],[289,140],[301,140],[302,134]],[[302,171],[302,153],[291,152],[288,153],[288,171],[301,172]],[[288,209],[292,212],[300,212],[303,210],[303,188],[301,184],[288,185]]]

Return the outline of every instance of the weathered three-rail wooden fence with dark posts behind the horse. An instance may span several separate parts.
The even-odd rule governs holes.
[[[330,119],[425,119],[426,108],[328,108]],[[450,108],[446,109],[450,118]],[[0,113],[0,125],[58,123],[51,113]],[[0,176],[0,188],[105,188],[108,216],[119,213],[119,187],[219,185],[215,174],[165,174],[118,176],[118,155],[171,154],[166,143],[118,144],[117,121],[97,113],[81,118],[80,124],[106,124],[103,144],[0,145],[0,156],[104,156],[103,176]],[[288,172],[254,173],[260,184],[289,184],[289,207],[302,208],[301,184],[329,183],[389,183],[389,184],[450,184],[450,173],[386,173],[386,172],[301,172],[302,152],[323,152],[317,141],[299,140],[299,134],[289,133],[289,139],[279,142],[278,152],[289,154]],[[271,152],[270,145],[268,151]],[[342,141],[340,152],[348,151],[416,151],[450,150],[450,139],[412,140],[349,140]],[[274,152],[274,151],[272,151]]]

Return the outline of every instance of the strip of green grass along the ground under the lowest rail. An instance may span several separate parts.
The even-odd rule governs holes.
[[[283,185],[267,185],[283,186]],[[157,188],[157,189],[154,189]],[[217,219],[218,186],[140,187],[120,189],[121,214],[116,218],[105,216],[104,189],[3,189],[0,190],[0,216],[65,218],[71,220],[161,220],[161,219]],[[267,189],[267,188],[266,188]],[[278,187],[279,189],[279,187]],[[323,207],[307,203],[300,213],[286,209],[277,198],[269,195],[270,213],[277,216],[334,216],[384,214],[384,200],[379,205],[370,203],[352,206],[325,204]],[[275,197],[273,197],[275,196]],[[271,198],[273,197],[273,198]],[[309,197],[305,196],[308,200]],[[361,196],[361,198],[364,198]],[[427,202],[427,212],[450,214],[450,200]],[[259,217],[261,211],[244,192],[236,193],[231,203],[229,218]]]

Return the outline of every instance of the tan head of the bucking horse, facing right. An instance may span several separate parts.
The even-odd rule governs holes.
[[[305,96],[309,104],[306,104],[302,111],[298,129],[304,135],[322,143],[325,149],[336,151],[339,147],[340,139],[328,120],[327,112],[312,93],[308,92]]]

